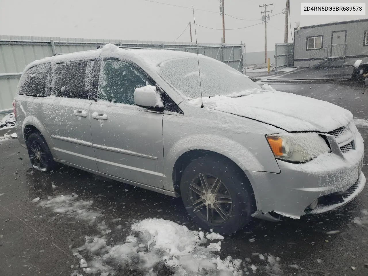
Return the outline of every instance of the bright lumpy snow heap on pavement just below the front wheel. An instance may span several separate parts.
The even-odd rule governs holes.
[[[210,233],[211,238],[223,238]],[[241,260],[215,256],[221,242],[209,243],[202,231],[164,219],[145,219],[131,226],[125,243],[109,245],[107,237],[86,236],[75,250],[86,273],[118,275],[243,275]]]

